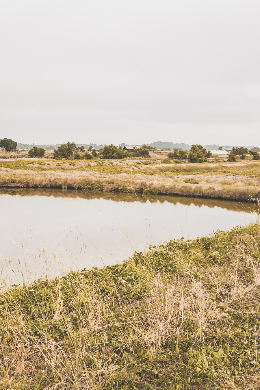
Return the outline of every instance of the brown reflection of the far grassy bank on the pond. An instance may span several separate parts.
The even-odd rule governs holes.
[[[113,200],[115,202],[143,202],[148,200],[151,203],[164,202],[172,204],[183,204],[189,206],[207,206],[207,207],[221,207],[226,210],[244,211],[250,213],[255,211],[253,204],[246,202],[237,202],[232,200],[222,199],[208,199],[208,198],[193,198],[176,195],[145,195],[135,193],[117,193],[117,192],[94,192],[83,190],[61,190],[60,188],[1,188],[0,195],[20,195],[20,196],[46,196],[55,198],[81,198],[81,199],[104,199]]]

